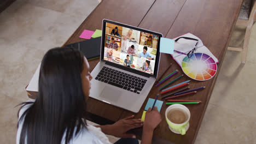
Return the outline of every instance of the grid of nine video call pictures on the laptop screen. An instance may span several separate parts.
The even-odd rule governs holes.
[[[104,60],[154,75],[159,36],[106,22]]]

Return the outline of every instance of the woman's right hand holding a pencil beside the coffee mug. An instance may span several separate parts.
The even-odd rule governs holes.
[[[162,121],[161,115],[158,112],[158,107],[154,107],[153,111],[151,111],[151,107],[146,112],[144,128],[147,130],[153,131],[158,124]]]

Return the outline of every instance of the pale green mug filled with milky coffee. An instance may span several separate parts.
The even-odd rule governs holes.
[[[172,122],[174,121],[173,118],[172,118],[172,121],[170,120],[170,118],[173,117],[175,115],[174,113],[177,113],[177,112],[181,113],[182,118],[179,118],[179,116],[176,115],[175,117],[178,117],[178,118],[175,118],[175,119],[178,119],[177,121],[181,121],[181,122],[174,123]],[[181,135],[186,134],[186,131],[189,128],[189,119],[190,119],[190,112],[187,107],[181,104],[170,105],[165,111],[165,118],[166,118],[167,124],[169,125],[169,129],[173,133],[181,134]]]

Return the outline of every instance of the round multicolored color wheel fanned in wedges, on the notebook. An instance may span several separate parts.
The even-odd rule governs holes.
[[[212,57],[205,53],[194,53],[182,60],[182,70],[191,79],[206,81],[211,79],[217,72],[217,64]]]

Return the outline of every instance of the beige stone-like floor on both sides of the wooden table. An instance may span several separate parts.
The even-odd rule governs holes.
[[[25,87],[52,47],[61,46],[97,6],[97,0],[17,0],[0,14],[0,139],[15,143],[18,107]],[[231,45],[241,45],[236,27]],[[246,64],[227,51],[195,143],[256,143],[256,26]],[[111,142],[117,141],[109,136]]]

